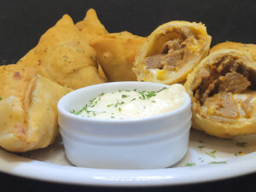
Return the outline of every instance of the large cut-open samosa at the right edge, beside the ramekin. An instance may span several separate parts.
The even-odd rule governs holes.
[[[247,51],[219,49],[189,73],[192,127],[212,136],[256,133],[256,62]]]

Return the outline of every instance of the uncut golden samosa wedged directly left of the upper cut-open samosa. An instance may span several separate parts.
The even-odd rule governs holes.
[[[99,36],[90,45],[109,81],[135,81],[133,62],[147,38],[130,32],[108,33]]]

